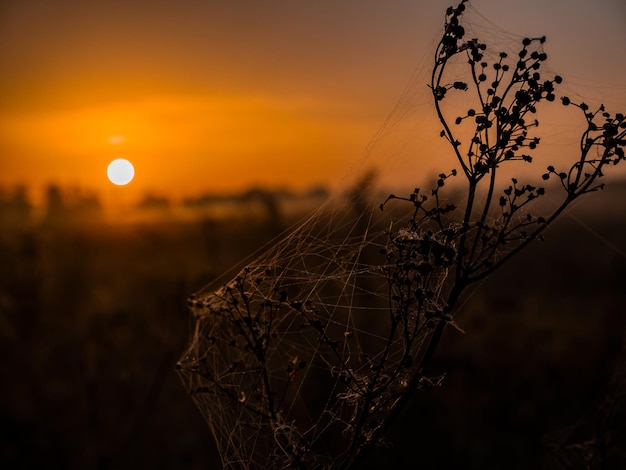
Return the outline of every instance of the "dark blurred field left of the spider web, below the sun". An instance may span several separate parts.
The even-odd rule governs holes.
[[[219,468],[174,371],[185,299],[300,217],[294,201],[251,190],[186,203],[227,203],[226,218],[180,221],[159,204],[109,223],[97,200],[57,186],[42,214],[25,188],[3,194],[0,467]]]

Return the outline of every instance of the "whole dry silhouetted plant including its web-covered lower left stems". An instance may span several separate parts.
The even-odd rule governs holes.
[[[624,115],[563,97],[583,131],[573,164],[543,174],[560,202],[542,212],[544,187],[502,186],[503,167],[533,164],[537,108],[556,100],[562,79],[543,73],[545,37],[523,39],[516,54],[467,38],[465,3],[446,12],[429,85],[460,169],[428,193],[389,196],[384,214],[406,209],[392,223],[355,224],[326,208],[231,282],[190,298],[195,330],[179,373],[225,467],[348,469],[388,445],[416,391],[440,383],[429,365],[444,330],[459,329],[468,286],[540,239],[624,160]],[[457,99],[473,103],[461,116],[446,107]],[[451,204],[442,194],[455,177],[463,197]]]

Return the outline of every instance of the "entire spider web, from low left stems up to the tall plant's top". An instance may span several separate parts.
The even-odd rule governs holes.
[[[471,8],[463,20],[469,37],[498,45],[488,54],[521,41]],[[445,253],[454,246],[428,220],[416,224],[410,205],[379,204],[390,182],[400,192],[421,184],[424,171],[454,165],[426,86],[440,34],[352,172],[374,166],[376,178],[352,182],[233,279],[188,300],[194,329],[179,374],[225,468],[333,467],[416,374],[430,319],[444,307]],[[467,109],[462,100],[459,109]],[[450,160],[417,158],[426,143]],[[404,273],[398,260],[409,253],[414,268],[434,269],[419,279]],[[414,305],[403,303],[407,286],[420,292],[407,294]]]

